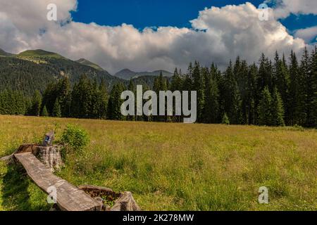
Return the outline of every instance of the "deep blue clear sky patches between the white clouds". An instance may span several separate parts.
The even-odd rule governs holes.
[[[99,25],[134,25],[142,30],[144,27],[190,27],[189,20],[197,18],[199,11],[205,7],[222,7],[230,4],[243,4],[245,0],[79,0],[73,20]],[[249,1],[259,6],[263,0]],[[317,15],[290,15],[280,20],[292,33],[293,30],[317,25]]]

